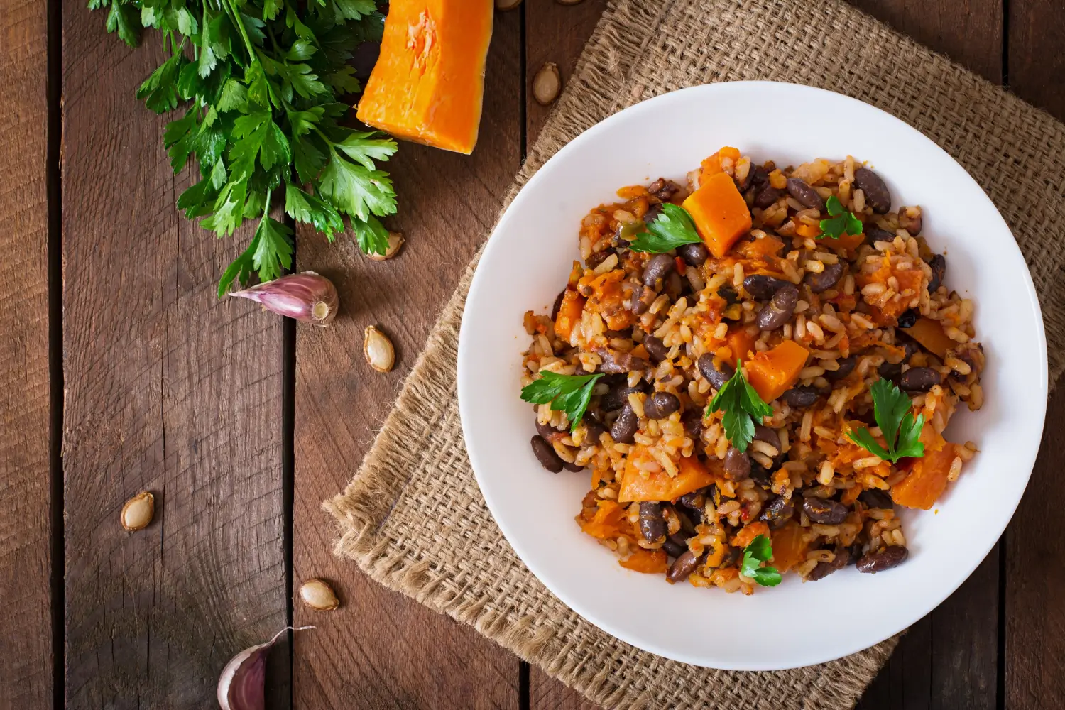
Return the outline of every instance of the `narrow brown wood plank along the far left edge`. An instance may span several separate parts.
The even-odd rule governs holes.
[[[0,12],[0,709],[52,703],[48,9]],[[61,651],[62,653],[62,651]]]

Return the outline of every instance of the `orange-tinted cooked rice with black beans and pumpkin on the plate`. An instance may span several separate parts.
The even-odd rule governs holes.
[[[544,369],[563,375],[602,371],[616,356],[646,361],[648,339],[658,339],[665,359],[600,380],[585,420],[573,432],[566,415],[548,404],[536,408],[538,428],[557,430],[545,435],[563,462],[591,469],[592,488],[577,523],[623,564],[660,573],[670,566],[669,558],[688,550],[699,558],[687,575],[690,583],[750,594],[756,584],[739,573],[739,565],[742,548],[755,533],[772,540],[774,566],[804,579],[820,579],[825,571],[858,557],[868,560],[884,547],[906,545],[897,513],[878,507],[878,501],[890,496],[929,508],[948,482],[961,476],[977,447],[971,442],[951,444],[941,433],[961,403],[971,410],[982,406],[984,358],[973,342],[973,302],[943,284],[931,287],[933,280],[941,279],[933,268],[934,254],[922,236],[906,231],[915,218],[919,224],[919,208],[875,213],[875,195],[855,186],[861,163],[850,156],[839,162],[818,159],[781,169],[772,162],[759,166],[746,155],[714,158],[752,205],[750,235],[725,258],[711,257],[698,268],[676,259],[675,273],[682,278],[663,280],[660,287],[654,286],[658,293],[641,296],[646,288],[642,271],[652,254],[630,251],[619,235],[635,234],[648,211],[657,210],[660,202],[679,204],[698,187],[701,171],[689,174],[686,185],[658,180],[618,191],[621,201],[593,209],[581,221],[578,246],[585,265],[574,262],[567,287],[580,294],[583,306],[569,337],[559,336],[553,317],[531,311],[524,316],[531,344],[524,353],[522,384],[538,379]],[[755,189],[746,188],[758,176],[781,191],[765,208],[753,207]],[[804,180],[822,199],[837,197],[865,224],[865,241],[854,246],[815,238],[828,215],[790,195],[785,189],[789,178]],[[868,236],[872,228],[880,230],[875,241]],[[842,277],[814,293],[806,276],[822,275],[838,264],[845,265]],[[748,293],[744,279],[757,275],[799,285],[794,313],[779,329],[761,331],[756,325],[765,300]],[[620,287],[606,287],[610,279]],[[634,311],[638,298],[645,307],[641,312]],[[912,323],[900,327],[900,318],[917,317],[941,331],[943,342],[949,343],[945,353],[940,349],[936,354],[907,335]],[[750,339],[751,351],[732,352],[730,339],[741,331]],[[722,413],[705,414],[715,389],[697,361],[702,356],[714,358],[716,365],[737,357],[749,360],[785,340],[810,352],[794,385],[812,389],[817,400],[798,406],[784,396],[770,402],[773,415],[764,424],[777,441],[754,441],[747,453],[751,476],[734,477],[722,464],[731,446]],[[849,374],[840,371],[842,365]],[[912,397],[913,414],[925,422],[925,456],[891,464],[857,446],[848,432],[866,427],[883,443],[869,389],[882,376],[898,380],[917,367],[930,368],[940,381]],[[625,386],[640,389],[622,399],[639,422],[632,444],[613,441],[610,427],[620,410],[602,407],[612,391]],[[679,411],[649,418],[654,392],[675,395]],[[701,417],[698,435],[687,428],[695,413]],[[625,483],[675,483],[684,480],[677,477],[687,475],[691,461],[709,473],[712,484],[657,501],[671,536],[666,542],[648,539],[641,534],[640,502],[626,496]],[[842,506],[847,517],[832,521],[835,524],[813,521],[804,500]],[[767,517],[782,503],[790,506],[783,519]]]

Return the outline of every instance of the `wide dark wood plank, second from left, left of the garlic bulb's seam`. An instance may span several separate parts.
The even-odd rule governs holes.
[[[217,278],[248,238],[179,215],[161,60],[63,11],[66,694],[71,708],[206,708],[237,650],[285,625],[281,320]],[[157,495],[127,534],[122,501]],[[286,706],[288,648],[272,696]]]

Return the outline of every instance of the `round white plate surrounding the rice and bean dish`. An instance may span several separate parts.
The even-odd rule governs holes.
[[[910,559],[878,575],[847,567],[818,582],[787,575],[753,596],[670,585],[622,568],[574,523],[588,474],[544,470],[519,399],[522,314],[546,312],[579,259],[589,209],[623,185],[683,180],[721,146],[758,162],[864,161],[894,205],[920,204],[947,285],[976,299],[987,353],[985,404],[960,412],[951,441],[981,452],[933,511],[906,511]],[[477,482],[528,568],[574,611],[645,650],[716,668],[772,671],[867,648],[921,618],[969,576],[1005,529],[1031,474],[1047,398],[1039,304],[995,205],[946,152],[897,118],[808,86],[737,82],[667,94],[618,113],[558,151],[499,220],[470,291],[459,339],[459,406]],[[964,409],[964,408],[963,408]]]

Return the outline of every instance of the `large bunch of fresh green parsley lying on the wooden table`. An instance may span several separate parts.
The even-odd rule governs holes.
[[[259,219],[248,248],[229,265],[218,295],[252,273],[263,281],[292,266],[292,230],[268,216],[284,211],[331,242],[349,218],[359,248],[383,254],[395,193],[377,164],[395,142],[341,122],[339,97],[361,89],[351,51],[380,40],[374,0],[89,0],[110,7],[108,31],[136,47],[143,28],[163,35],[168,56],[137,89],[155,113],[185,105],[163,143],[175,174],[195,156],[200,180],[178,198],[189,218],[218,236]]]

